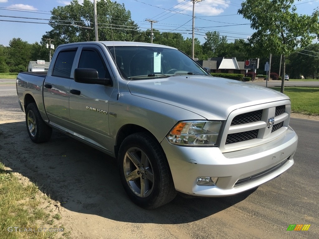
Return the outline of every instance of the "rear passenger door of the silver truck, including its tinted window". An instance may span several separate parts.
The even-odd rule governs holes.
[[[50,124],[66,130],[70,121],[69,96],[79,45],[57,48],[43,88],[44,105]]]

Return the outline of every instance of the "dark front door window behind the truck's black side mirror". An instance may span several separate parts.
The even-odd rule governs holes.
[[[99,73],[99,78],[110,78],[110,74],[100,54],[94,50],[83,49],[81,52],[78,68],[92,68]]]

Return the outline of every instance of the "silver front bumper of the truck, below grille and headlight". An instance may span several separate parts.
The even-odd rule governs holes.
[[[293,165],[297,142],[296,133],[288,127],[286,134],[271,142],[227,153],[221,153],[217,147],[177,146],[166,139],[161,145],[177,191],[222,197],[255,188],[285,172]],[[199,186],[198,177],[218,180],[215,186]]]

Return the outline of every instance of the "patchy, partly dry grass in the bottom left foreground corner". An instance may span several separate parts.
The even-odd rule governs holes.
[[[49,228],[63,228],[59,223],[61,215],[52,207],[52,200],[41,194],[38,186],[31,182],[21,183],[11,170],[5,170],[4,164],[0,163],[1,239],[69,238],[68,232],[49,231]],[[47,230],[44,232],[42,228]]]

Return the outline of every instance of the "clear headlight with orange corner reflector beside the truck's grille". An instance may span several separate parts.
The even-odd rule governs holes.
[[[222,121],[181,121],[167,134],[172,144],[183,146],[217,146]]]

